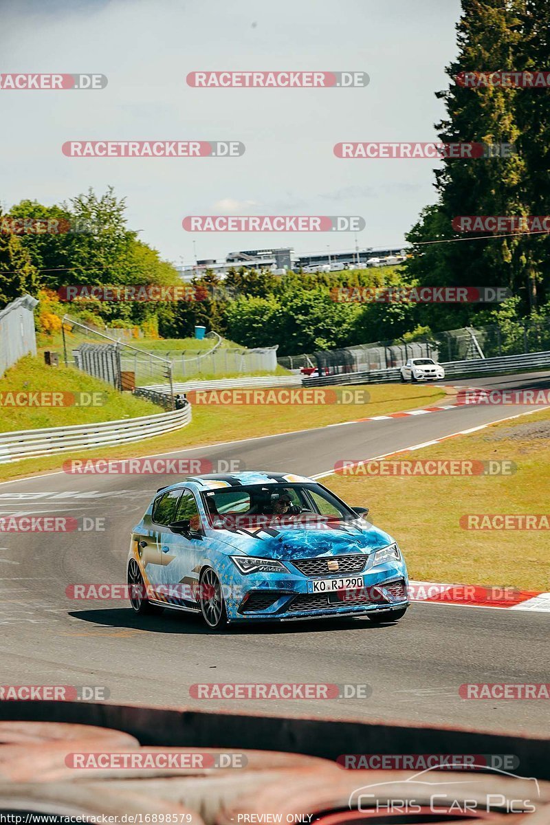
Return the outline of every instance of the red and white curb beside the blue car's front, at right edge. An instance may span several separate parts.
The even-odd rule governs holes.
[[[550,593],[518,590],[515,587],[409,582],[409,598],[411,601],[429,601],[432,604],[550,613]]]

